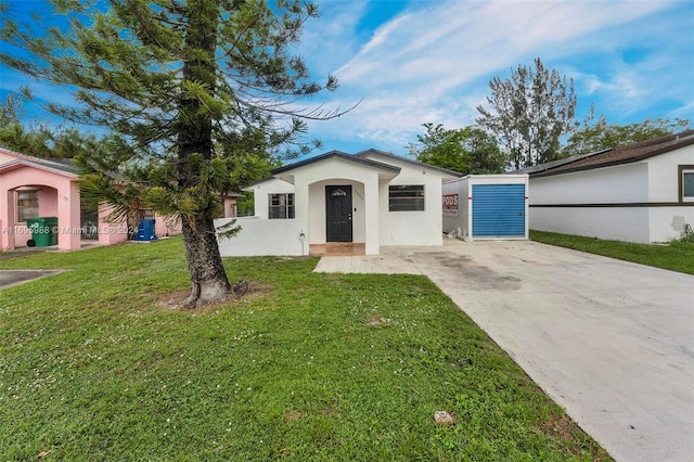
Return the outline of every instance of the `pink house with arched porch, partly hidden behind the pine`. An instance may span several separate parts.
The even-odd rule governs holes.
[[[25,217],[57,217],[57,248],[75,251],[83,241],[103,245],[128,239],[126,223],[108,223],[107,207],[82,210],[79,176],[69,161],[49,161],[0,147],[0,249],[27,245],[31,232]],[[222,197],[224,217],[236,216],[236,197]],[[154,215],[158,236],[180,234],[179,222]]]

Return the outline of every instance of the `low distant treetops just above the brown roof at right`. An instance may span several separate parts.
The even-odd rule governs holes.
[[[618,145],[638,143],[670,133],[687,130],[689,119],[655,118],[628,125],[608,125],[604,115],[593,125],[584,124],[569,137],[564,146],[564,156],[588,154]]]

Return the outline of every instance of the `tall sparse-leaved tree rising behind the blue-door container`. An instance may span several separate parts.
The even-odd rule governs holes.
[[[553,161],[561,155],[562,137],[575,131],[577,98],[574,80],[549,70],[540,59],[535,68],[518,66],[511,78],[489,82],[490,110],[477,106],[477,124],[494,134],[512,166],[523,168]]]

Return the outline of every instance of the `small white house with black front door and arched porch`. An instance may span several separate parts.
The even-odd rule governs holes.
[[[460,174],[377,150],[331,151],[272,171],[246,191],[255,216],[220,240],[222,256],[308,255],[311,246],[440,245],[441,187]],[[219,227],[228,220],[217,220]]]

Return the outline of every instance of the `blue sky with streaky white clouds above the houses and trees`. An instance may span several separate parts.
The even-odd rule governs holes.
[[[694,1],[318,3],[322,15],[307,24],[296,51],[316,79],[334,74],[340,87],[306,105],[344,110],[361,101],[339,118],[310,124],[323,151],[406,154],[424,123],[473,125],[489,80],[535,57],[574,79],[579,118],[593,103],[611,124],[694,120]],[[0,73],[2,97],[26,84]],[[39,97],[55,97],[35,87]]]

